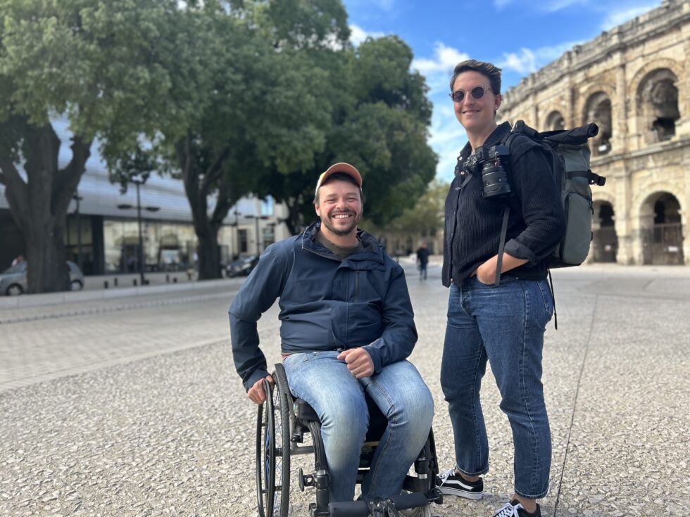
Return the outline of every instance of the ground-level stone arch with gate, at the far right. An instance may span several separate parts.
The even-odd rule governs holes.
[[[683,264],[682,204],[669,190],[649,193],[639,205],[643,264]]]

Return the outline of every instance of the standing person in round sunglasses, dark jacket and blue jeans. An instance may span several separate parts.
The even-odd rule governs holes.
[[[546,282],[548,255],[565,232],[565,215],[541,148],[517,136],[502,160],[510,193],[487,196],[477,148],[503,144],[510,124],[496,125],[501,69],[458,63],[451,98],[468,144],[460,152],[446,198],[443,283],[450,287],[441,386],[449,403],[456,466],[439,475],[444,494],[481,499],[489,445],[479,388],[491,365],[515,447],[515,495],[496,516],[541,516],[537,499],[548,492],[551,433],[541,385],[544,330],[553,314]],[[482,150],[480,150],[482,151]],[[504,208],[506,245],[498,261]],[[502,262],[502,264],[501,264]],[[501,281],[495,285],[501,264]]]

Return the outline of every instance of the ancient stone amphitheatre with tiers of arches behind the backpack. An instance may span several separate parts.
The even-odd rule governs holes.
[[[503,95],[503,120],[540,131],[596,122],[589,260],[690,264],[690,2],[575,46]]]

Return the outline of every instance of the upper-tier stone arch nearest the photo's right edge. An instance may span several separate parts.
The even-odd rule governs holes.
[[[684,91],[678,87],[683,66],[669,59],[660,59],[641,68],[631,84],[637,132],[643,143],[671,139],[680,119]]]

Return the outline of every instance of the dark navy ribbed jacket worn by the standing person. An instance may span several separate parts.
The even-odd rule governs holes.
[[[484,146],[500,143],[510,133],[510,124],[496,127]],[[464,161],[472,148],[460,152]],[[503,208],[510,206],[506,248],[508,255],[528,262],[506,272],[525,280],[546,278],[548,255],[565,233],[565,214],[560,191],[551,173],[548,158],[539,144],[527,136],[513,139],[510,166],[506,167],[513,195],[501,199],[482,198],[482,174],[461,170],[446,197],[444,267],[442,281],[460,286],[483,262],[498,253]],[[468,174],[470,179],[465,182]],[[460,186],[462,185],[462,188]]]

